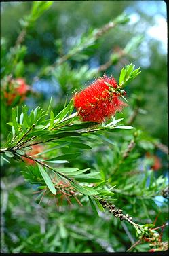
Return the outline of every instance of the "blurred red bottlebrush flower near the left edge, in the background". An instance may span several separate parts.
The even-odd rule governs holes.
[[[12,79],[8,86],[8,90],[4,92],[4,96],[7,99],[7,105],[11,105],[17,96],[20,96],[20,100],[24,100],[29,90],[30,86],[26,84],[24,79]]]

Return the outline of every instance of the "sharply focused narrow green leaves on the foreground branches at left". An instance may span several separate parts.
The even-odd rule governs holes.
[[[88,144],[86,144],[86,134],[90,132],[100,132],[102,130],[118,130],[118,129],[132,129],[132,126],[119,126],[117,125],[121,119],[115,120],[105,125],[98,125],[94,122],[81,122],[77,113],[73,113],[73,99],[70,103],[64,107],[60,113],[56,116],[53,111],[50,111],[52,99],[50,100],[50,105],[47,111],[44,111],[40,107],[33,109],[31,113],[28,114],[28,108],[26,105],[22,107],[22,113],[18,113],[18,108],[12,109],[12,122],[8,123],[12,126],[12,132],[7,137],[7,142],[1,149],[8,158],[13,158],[19,160],[20,158],[28,157],[26,151],[31,149],[32,145],[43,144],[52,142],[53,147],[50,147],[50,151],[56,149],[56,145],[59,147],[65,147],[69,145],[71,148],[79,149],[92,149]],[[50,112],[50,118],[49,118]],[[96,128],[93,126],[96,126]],[[74,143],[75,139],[75,143]],[[49,151],[49,149],[48,149]],[[42,155],[45,152],[42,152]],[[39,155],[39,154],[38,154]],[[72,158],[77,158],[81,156],[81,153],[66,153],[64,155],[55,156],[50,159],[37,158],[38,168],[32,169],[31,172],[26,172],[26,179],[31,181],[31,183],[40,182],[41,185],[47,185],[48,189],[52,194],[56,194],[56,189],[54,184],[50,179],[50,176],[41,164],[44,166],[45,163],[60,164],[69,163]],[[1,156],[2,160],[9,162],[4,156]],[[60,162],[61,161],[61,162]],[[88,172],[88,168],[84,170],[79,170],[79,168],[60,168],[46,166],[49,170],[52,170],[58,179],[64,178],[70,181],[71,185],[77,189],[80,193],[84,195],[104,195],[109,196],[111,193],[107,191],[97,191],[96,187],[91,189],[90,187],[81,187],[78,183],[74,181],[81,181],[83,183],[97,183],[97,187],[105,183],[104,180],[100,179],[100,172]],[[35,173],[34,173],[35,172]],[[22,172],[23,174],[25,172]],[[29,177],[29,175],[31,175]],[[35,179],[35,180],[34,180]],[[37,182],[38,181],[38,182]],[[98,189],[99,190],[99,189]],[[92,203],[92,200],[90,201]],[[93,204],[92,204],[93,206]]]

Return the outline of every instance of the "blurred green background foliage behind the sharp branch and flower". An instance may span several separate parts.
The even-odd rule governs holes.
[[[25,54],[20,54],[23,55],[23,60],[18,58],[16,63],[10,62],[11,57],[7,54],[12,55],[10,48],[15,45],[25,16],[30,14],[32,5],[31,1],[1,3],[1,77],[12,73],[14,78],[26,79],[33,90],[25,100],[29,109],[37,105],[46,108],[52,96],[52,110],[56,114],[64,106],[67,97],[68,100],[72,98],[76,90],[90,84],[94,77],[106,73],[113,75],[118,81],[121,68],[125,64],[132,62],[136,68],[140,67],[142,73],[125,88],[128,107],[116,115],[117,118],[124,118],[123,124],[126,125],[136,113],[131,125],[136,130],[143,130],[143,133],[138,131],[132,154],[118,172],[113,173],[113,168],[116,168],[121,159],[121,151],[128,147],[134,138],[134,132],[107,132],[104,136],[100,134],[86,137],[92,151],[82,151],[81,158],[72,160],[70,164],[77,168],[92,167],[105,175],[105,179],[112,177],[110,185],[117,185],[115,203],[123,208],[124,213],[132,215],[137,223],[153,223],[158,216],[156,226],[163,225],[168,218],[167,202],[162,196],[155,196],[161,193],[157,188],[166,176],[167,158],[165,152],[157,150],[153,140],[155,138],[165,145],[168,143],[166,3],[54,1],[50,9],[29,26],[22,43],[26,46],[23,50]],[[48,66],[53,65],[72,48],[76,48],[81,41],[83,44],[92,29],[105,26],[122,12],[130,16],[130,22],[109,29],[89,47],[55,67],[52,73],[48,72]],[[116,59],[126,48],[128,53]],[[105,63],[109,64],[107,68],[98,71]],[[2,103],[2,109],[4,126],[1,138],[5,141],[11,129],[10,126],[5,126],[6,122],[10,122],[11,106],[5,109]],[[69,153],[69,150],[77,151],[63,147],[54,154]],[[151,178],[147,176],[143,181],[144,175],[149,175],[151,167],[145,156],[147,152],[158,156],[162,166],[157,172],[150,171]],[[51,155],[52,157],[54,156]],[[20,170],[24,168],[25,164],[18,162],[3,164],[2,252],[126,251],[136,242],[132,226],[109,213],[100,213],[99,218],[95,217],[85,197],[81,199],[84,207],[79,207],[74,202],[73,206],[64,202],[63,206],[57,207],[54,201],[45,197],[39,204],[36,200],[37,194],[33,195],[37,186],[29,185],[20,175]],[[129,174],[130,171],[136,174]],[[143,173],[139,176],[137,172]],[[156,187],[149,187],[150,179],[152,182],[157,179]],[[130,196],[130,193],[136,196]],[[164,240],[167,237],[167,230],[164,229]],[[147,244],[140,244],[134,250],[148,251],[149,247]]]

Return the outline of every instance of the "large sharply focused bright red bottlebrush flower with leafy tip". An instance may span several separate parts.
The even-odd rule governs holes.
[[[119,96],[125,94],[124,90],[123,93],[117,90],[113,77],[104,75],[81,92],[75,93],[74,106],[83,121],[100,123],[126,106],[126,103],[119,100]]]

